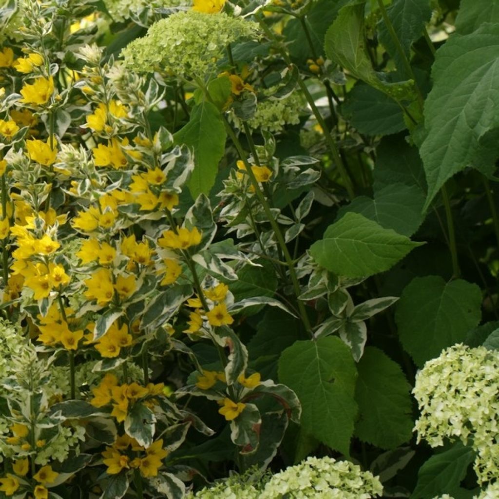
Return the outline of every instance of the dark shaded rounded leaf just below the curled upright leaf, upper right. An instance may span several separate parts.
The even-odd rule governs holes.
[[[388,95],[363,82],[348,92],[341,113],[365,135],[390,135],[406,128],[400,106]]]

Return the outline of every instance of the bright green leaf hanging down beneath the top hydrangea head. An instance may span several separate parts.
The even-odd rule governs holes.
[[[191,196],[196,199],[201,193],[210,194],[227,138],[220,111],[211,102],[194,106],[189,123],[174,137],[177,144],[186,144],[194,151],[195,167],[188,183]]]

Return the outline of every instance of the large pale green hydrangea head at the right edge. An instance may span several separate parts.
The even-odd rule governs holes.
[[[454,345],[418,372],[413,394],[421,409],[418,442],[472,439],[479,483],[499,478],[499,352]]]

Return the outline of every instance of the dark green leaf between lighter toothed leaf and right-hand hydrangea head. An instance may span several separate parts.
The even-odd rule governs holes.
[[[395,449],[412,437],[411,386],[399,364],[368,346],[357,364],[355,434],[381,449]]]

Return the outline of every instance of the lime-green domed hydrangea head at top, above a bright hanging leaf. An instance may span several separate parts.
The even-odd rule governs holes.
[[[135,71],[159,69],[181,77],[205,77],[215,70],[229,43],[254,38],[257,29],[256,23],[224,12],[177,12],[155,22],[122,55],[126,66]]]

